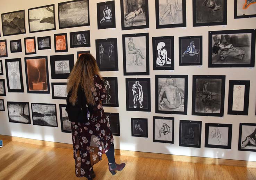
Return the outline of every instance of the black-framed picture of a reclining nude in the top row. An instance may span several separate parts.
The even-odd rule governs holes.
[[[120,0],[122,30],[149,28],[148,0]]]

